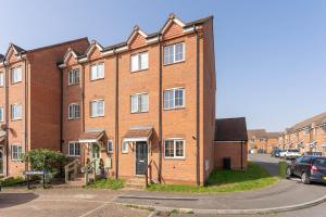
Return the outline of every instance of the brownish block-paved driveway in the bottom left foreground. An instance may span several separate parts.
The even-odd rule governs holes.
[[[110,203],[117,192],[84,189],[4,190],[0,217],[148,216],[149,210]]]

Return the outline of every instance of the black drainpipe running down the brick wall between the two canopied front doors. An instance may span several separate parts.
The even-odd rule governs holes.
[[[118,178],[118,55],[115,55],[115,178]]]

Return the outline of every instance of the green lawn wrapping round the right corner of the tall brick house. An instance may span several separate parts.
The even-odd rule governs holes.
[[[151,184],[149,191],[174,191],[193,193],[234,192],[262,189],[278,182],[264,168],[249,163],[247,170],[214,170],[205,187],[187,184]]]

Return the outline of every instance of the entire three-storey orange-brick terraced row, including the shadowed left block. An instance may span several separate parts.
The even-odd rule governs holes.
[[[35,50],[11,44],[0,62],[1,170],[17,176],[36,148],[59,150],[108,176],[201,184],[214,167],[213,17],[171,14],[158,33],[87,38]],[[100,171],[100,169],[98,169]],[[181,173],[180,173],[181,171]]]

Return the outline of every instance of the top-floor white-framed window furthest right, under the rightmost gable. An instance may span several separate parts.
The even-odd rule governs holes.
[[[164,65],[178,63],[185,60],[185,43],[164,47]]]

